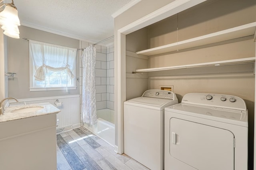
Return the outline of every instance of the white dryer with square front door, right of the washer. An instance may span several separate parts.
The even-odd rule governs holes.
[[[248,110],[244,100],[189,93],[165,108],[165,170],[247,170]]]

